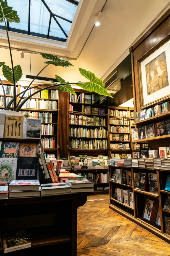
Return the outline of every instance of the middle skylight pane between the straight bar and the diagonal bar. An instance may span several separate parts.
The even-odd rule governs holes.
[[[30,31],[47,35],[50,12],[41,0],[31,0]]]

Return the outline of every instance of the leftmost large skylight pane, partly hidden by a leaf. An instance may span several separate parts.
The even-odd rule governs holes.
[[[20,23],[9,22],[9,27],[28,31],[28,0],[7,0],[8,6],[17,11]]]

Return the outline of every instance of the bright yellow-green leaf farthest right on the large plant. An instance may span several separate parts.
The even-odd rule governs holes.
[[[102,79],[95,77],[94,73],[90,71],[86,71],[85,69],[79,68],[79,71],[80,71],[80,74],[86,77],[90,82],[83,83],[83,84],[76,84],[77,86],[82,87],[86,91],[95,92],[100,95],[105,95],[113,98],[112,95],[109,94],[105,89],[105,85],[102,82]]]

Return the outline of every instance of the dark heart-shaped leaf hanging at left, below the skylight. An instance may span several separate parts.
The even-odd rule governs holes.
[[[9,82],[14,84],[13,74],[12,74],[11,70],[12,69],[9,66],[3,65],[3,67],[2,67],[2,73],[3,73],[4,77]],[[17,83],[21,79],[21,77],[22,77],[22,69],[21,69],[20,65],[14,67],[14,75],[15,75],[15,82]]]

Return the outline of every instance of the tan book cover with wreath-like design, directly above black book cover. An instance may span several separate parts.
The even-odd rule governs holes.
[[[37,144],[30,143],[20,143],[19,156],[20,157],[36,157]]]

